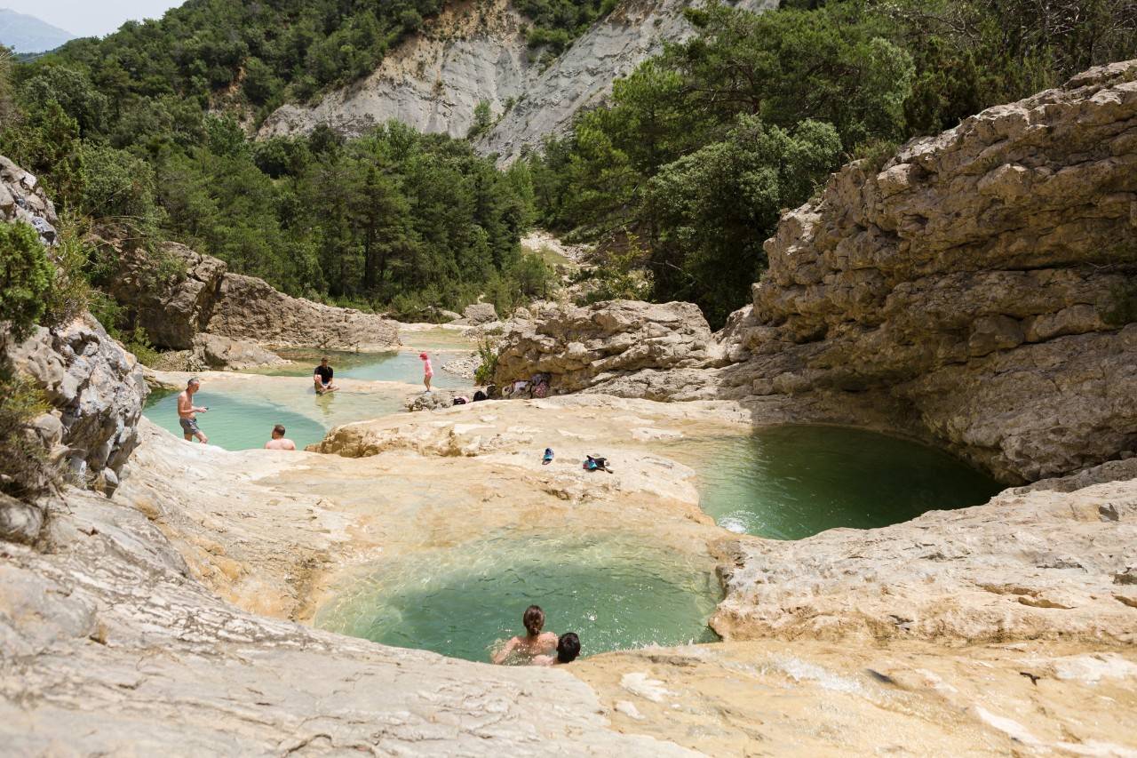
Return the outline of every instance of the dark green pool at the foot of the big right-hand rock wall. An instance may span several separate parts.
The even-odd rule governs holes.
[[[696,469],[699,504],[720,526],[777,539],[899,524],[1002,489],[941,451],[860,429],[771,427],[662,452]]]

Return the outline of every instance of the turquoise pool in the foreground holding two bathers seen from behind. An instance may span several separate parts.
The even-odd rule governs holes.
[[[400,648],[489,660],[531,603],[581,656],[712,642],[715,576],[634,536],[503,536],[384,562],[316,612],[316,626]]]

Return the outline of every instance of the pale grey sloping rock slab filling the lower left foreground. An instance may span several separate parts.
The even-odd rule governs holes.
[[[488,667],[254,616],[140,510],[75,489],[51,551],[0,550],[11,755],[684,756],[606,728],[564,670]]]

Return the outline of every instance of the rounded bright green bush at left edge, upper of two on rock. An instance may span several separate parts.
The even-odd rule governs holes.
[[[55,273],[34,229],[0,223],[0,321],[15,341],[26,339],[43,320]]]

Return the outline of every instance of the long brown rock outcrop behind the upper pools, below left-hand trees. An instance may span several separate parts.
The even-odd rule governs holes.
[[[111,287],[159,347],[191,349],[201,332],[269,347],[380,351],[399,344],[398,327],[383,316],[284,295],[184,245],[166,244],[163,253],[184,265],[184,277],[156,281],[144,253],[124,252]]]

